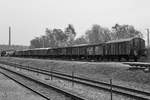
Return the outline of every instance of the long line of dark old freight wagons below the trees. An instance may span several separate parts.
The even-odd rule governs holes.
[[[93,59],[113,60],[132,59],[145,55],[145,41],[142,38],[134,37],[108,41],[100,44],[82,44],[70,47],[58,48],[36,48],[15,51],[11,56],[15,57],[38,57],[38,58],[60,58],[60,59]]]

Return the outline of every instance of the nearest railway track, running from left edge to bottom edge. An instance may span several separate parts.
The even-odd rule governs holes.
[[[38,95],[44,97],[46,100],[52,100],[48,96],[49,93],[46,93],[45,91],[37,91],[37,90],[33,89],[32,87],[29,86],[32,84],[32,82],[38,84],[39,86],[44,87],[45,89],[52,89],[52,90],[58,92],[59,94],[60,93],[63,94],[64,96],[66,96],[67,100],[88,100],[87,98],[85,98],[79,94],[75,94],[75,93],[72,93],[71,91],[61,89],[55,85],[45,83],[39,79],[35,79],[35,77],[32,77],[30,75],[26,75],[26,74],[23,74],[23,73],[20,73],[17,71],[13,71],[13,70],[10,70],[10,69],[2,67],[2,66],[0,66],[0,68],[3,70],[3,71],[0,71],[0,73],[4,74],[5,76],[9,77],[10,79],[16,81],[17,83],[23,85],[24,87],[30,89],[31,91],[37,93]],[[19,78],[21,78],[23,82],[18,80]],[[29,85],[26,85],[25,83],[27,81],[30,81],[31,83],[29,83]],[[64,100],[66,100],[66,99],[64,99]]]

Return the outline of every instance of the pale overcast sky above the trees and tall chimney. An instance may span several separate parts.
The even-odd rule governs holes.
[[[144,36],[150,28],[150,0],[0,0],[0,44],[30,45],[45,28],[72,24],[78,36],[99,24],[111,29],[116,23],[133,25]]]

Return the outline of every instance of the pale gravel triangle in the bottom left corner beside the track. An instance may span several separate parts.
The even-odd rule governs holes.
[[[13,80],[0,74],[0,100],[45,100]]]

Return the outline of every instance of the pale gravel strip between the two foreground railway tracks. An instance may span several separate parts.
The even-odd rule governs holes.
[[[5,67],[8,67],[8,66],[5,66]],[[88,86],[79,85],[79,84],[75,84],[75,83],[72,84],[71,82],[68,82],[65,80],[60,80],[58,78],[53,78],[51,80],[50,79],[51,77],[49,77],[49,76],[30,72],[27,70],[22,70],[22,69],[20,70],[18,68],[13,68],[13,67],[11,67],[11,69],[20,71],[27,75],[32,75],[38,79],[41,79],[45,82],[50,83],[50,84],[55,84],[56,86],[59,86],[61,88],[67,89],[69,91],[73,91],[77,94],[80,94],[80,95],[83,95],[83,96],[89,98],[90,100],[110,100],[110,93],[103,91],[103,90],[99,90],[99,89],[95,89],[95,88],[91,88]],[[135,100],[135,99],[131,99],[129,97],[113,94],[113,100]]]

